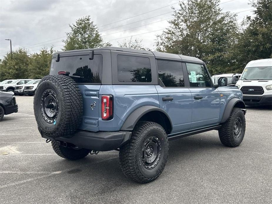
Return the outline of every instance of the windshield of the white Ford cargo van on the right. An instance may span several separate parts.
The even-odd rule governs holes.
[[[272,80],[272,66],[247,67],[241,80]]]

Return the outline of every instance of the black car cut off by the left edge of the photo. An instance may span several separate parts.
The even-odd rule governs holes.
[[[13,92],[0,91],[0,121],[4,115],[18,112],[18,105]]]

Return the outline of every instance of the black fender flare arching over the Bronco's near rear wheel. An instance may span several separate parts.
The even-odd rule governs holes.
[[[171,129],[172,129],[172,122],[168,114],[161,108],[158,108],[156,106],[141,106],[137,109],[135,109],[130,115],[126,118],[123,126],[121,127],[121,130],[124,131],[131,131],[134,129],[136,123],[139,121],[139,119],[146,113],[151,111],[160,111],[161,113],[164,113],[168,120],[171,123]]]

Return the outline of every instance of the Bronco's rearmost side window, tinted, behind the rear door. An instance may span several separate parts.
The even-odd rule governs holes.
[[[117,55],[118,81],[151,82],[151,65],[148,57]]]

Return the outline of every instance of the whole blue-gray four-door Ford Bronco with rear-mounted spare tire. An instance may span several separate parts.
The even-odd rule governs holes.
[[[162,173],[168,141],[218,130],[236,147],[246,121],[243,94],[203,61],[116,47],[56,52],[38,85],[39,132],[61,157],[119,151],[124,174],[148,183]]]

